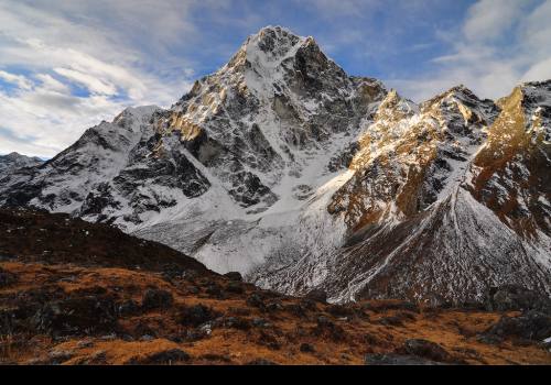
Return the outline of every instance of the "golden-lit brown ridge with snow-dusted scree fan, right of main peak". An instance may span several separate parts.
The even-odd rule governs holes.
[[[549,95],[550,84],[517,88],[501,101],[500,112],[464,88],[423,103],[417,113],[391,95],[360,140],[354,176],[328,206],[348,224],[343,248],[264,270],[258,283],[304,293],[315,282],[334,300],[478,301],[505,283],[550,295],[549,125],[540,119],[523,123],[530,111],[549,113],[548,99],[529,96]],[[521,96],[520,107],[512,101]],[[511,113],[521,120],[517,135],[522,141],[508,138]],[[496,133],[504,129],[506,133]],[[495,153],[496,136],[507,143],[499,151],[509,145],[515,151],[508,160]],[[501,168],[488,169],[496,167],[483,163],[488,153]],[[489,200],[487,190],[507,191],[503,186],[512,196],[500,194],[496,204],[495,193]],[[526,210],[514,206],[504,212],[517,195],[530,202],[518,199]],[[320,266],[324,271],[316,273]],[[312,279],[315,274],[317,280]]]

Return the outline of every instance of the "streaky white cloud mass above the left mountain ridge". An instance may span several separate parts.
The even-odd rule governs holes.
[[[195,3],[0,2],[0,153],[53,156],[127,106],[177,100],[194,72],[173,50],[196,35]]]

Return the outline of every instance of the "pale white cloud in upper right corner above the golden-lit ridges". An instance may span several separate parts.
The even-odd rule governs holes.
[[[551,78],[551,0],[480,0],[458,33],[441,33],[446,55],[431,58],[430,70],[388,82],[422,101],[464,84],[482,98],[497,99],[522,81]]]

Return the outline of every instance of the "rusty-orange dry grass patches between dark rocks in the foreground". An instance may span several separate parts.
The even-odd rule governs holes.
[[[102,287],[111,295],[140,301],[147,288],[156,287],[172,293],[173,308],[203,304],[226,317],[235,315],[235,309],[245,309],[248,315],[242,318],[249,322],[255,318],[263,318],[271,324],[268,328],[252,326],[247,330],[220,326],[198,340],[174,342],[171,341],[171,336],[184,334],[186,328],[175,321],[173,309],[152,310],[126,317],[119,322],[122,330],[130,334],[138,324],[147,324],[156,333],[151,341],[142,341],[138,337],[138,340],[126,341],[118,337],[121,333],[107,339],[101,334],[74,336],[62,341],[37,336],[32,340],[32,349],[22,349],[23,345],[15,341],[29,342],[30,336],[11,334],[1,340],[2,362],[40,362],[47,360],[52,352],[67,352],[64,364],[143,363],[152,354],[181,349],[192,358],[185,362],[187,364],[246,364],[259,358],[291,365],[363,364],[367,353],[389,353],[399,349],[407,339],[422,338],[440,343],[458,361],[469,364],[551,363],[550,354],[536,345],[514,346],[510,342],[489,345],[478,342],[476,336],[495,323],[501,316],[499,314],[453,309],[440,309],[436,312],[421,309],[420,312],[411,312],[389,306],[392,301],[368,301],[354,305],[354,311],[359,315],[360,306],[369,304],[364,316],[355,316],[348,320],[334,316],[332,308],[324,304],[316,304],[316,309],[309,310],[306,317],[299,317],[287,309],[266,312],[251,307],[246,298],[257,290],[250,285],[246,285],[245,295],[219,299],[204,292],[190,294],[187,289],[191,283],[182,279],[170,284],[159,273],[152,272],[45,266],[19,262],[4,262],[0,266],[19,277],[15,285],[0,289],[0,298],[40,287],[55,286],[67,296]],[[63,277],[72,277],[72,282],[60,280]],[[201,286],[201,278],[193,284]],[[217,284],[223,286],[226,280],[219,278]],[[274,300],[283,307],[301,302],[301,299],[292,297],[276,297]],[[270,299],[266,299],[266,302],[269,301]],[[334,339],[325,332],[314,333],[320,316],[327,317],[342,328],[344,337]],[[389,317],[400,318],[401,324],[380,322]],[[314,346],[314,352],[302,352],[302,343]],[[30,348],[31,344],[26,343],[26,346]]]

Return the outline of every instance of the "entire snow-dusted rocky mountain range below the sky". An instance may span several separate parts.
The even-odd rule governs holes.
[[[3,177],[0,205],[114,223],[329,301],[549,296],[550,125],[551,81],[418,106],[266,28],[170,109],[127,109]]]

